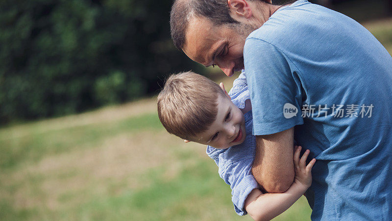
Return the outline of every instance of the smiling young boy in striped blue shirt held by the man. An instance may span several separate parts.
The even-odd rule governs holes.
[[[221,86],[221,87],[220,87]],[[262,193],[251,174],[255,137],[245,73],[233,83],[229,94],[206,77],[192,72],[172,75],[158,95],[158,115],[166,130],[185,142],[207,144],[207,154],[219,166],[221,178],[232,189],[237,214],[254,220],[270,220],[285,210],[310,187],[309,150],[299,159],[295,147],[295,178],[285,193]]]

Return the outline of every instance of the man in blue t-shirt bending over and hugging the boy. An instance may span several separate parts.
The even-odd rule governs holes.
[[[270,3],[176,0],[173,42],[227,76],[245,67],[252,173],[267,192],[293,182],[295,138],[318,160],[306,194],[312,220],[391,220],[391,55],[340,13],[306,0]]]

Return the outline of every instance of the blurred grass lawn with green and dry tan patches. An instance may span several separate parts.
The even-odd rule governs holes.
[[[392,52],[392,20],[365,27]],[[0,152],[1,221],[251,220],[205,147],[166,133],[155,98],[3,127]],[[302,197],[275,220],[310,213]]]

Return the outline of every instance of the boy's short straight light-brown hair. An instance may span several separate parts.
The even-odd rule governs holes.
[[[221,87],[210,79],[185,72],[170,76],[158,95],[158,116],[175,136],[195,140],[215,121]]]

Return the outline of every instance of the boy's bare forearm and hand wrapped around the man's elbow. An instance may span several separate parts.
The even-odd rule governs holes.
[[[265,193],[255,189],[245,200],[245,210],[256,221],[271,220],[286,211],[312,183],[312,167],[316,160],[306,166],[307,150],[299,160],[300,147],[294,153],[295,178],[293,184],[284,193]]]

